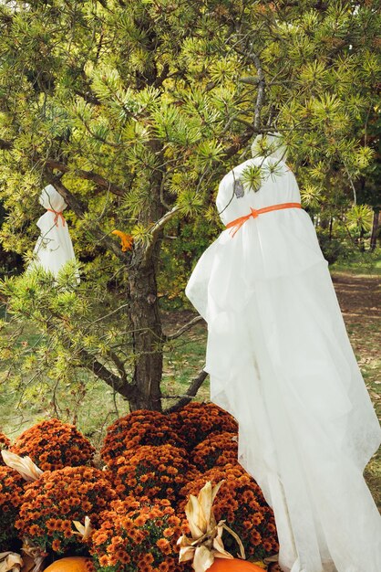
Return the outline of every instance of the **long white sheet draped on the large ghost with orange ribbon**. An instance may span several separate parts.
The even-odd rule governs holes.
[[[221,181],[224,224],[300,202],[293,173],[234,194],[251,159]],[[345,331],[314,225],[298,208],[221,232],[186,288],[208,323],[211,400],[239,422],[239,461],[273,507],[285,572],[380,572],[381,517],[363,478],[381,429]]]

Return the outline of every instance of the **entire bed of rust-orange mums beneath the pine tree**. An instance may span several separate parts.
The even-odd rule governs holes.
[[[29,455],[45,472],[26,483],[0,467],[0,512],[6,507],[0,549],[22,539],[53,558],[88,556],[91,550],[104,572],[190,571],[190,563],[179,563],[176,546],[181,533],[190,532],[185,504],[205,482],[222,480],[214,503],[217,521],[225,520],[241,537],[247,557],[271,556],[279,549],[273,511],[237,463],[236,438],[234,418],[213,404],[193,403],[168,417],[135,411],[108,428],[104,471],[85,465],[47,471],[91,461],[94,449],[74,426],[57,419],[38,423],[10,450]],[[93,533],[88,537],[88,525],[83,528],[84,540],[73,521],[85,524],[86,517]],[[236,555],[233,535],[223,541]]]

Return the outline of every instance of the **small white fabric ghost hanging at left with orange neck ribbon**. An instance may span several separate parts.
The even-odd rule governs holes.
[[[41,265],[57,276],[68,260],[76,259],[63,216],[67,204],[53,185],[47,185],[42,190],[39,202],[46,208],[46,213],[37,221],[41,234],[34,249],[35,260],[32,267]]]

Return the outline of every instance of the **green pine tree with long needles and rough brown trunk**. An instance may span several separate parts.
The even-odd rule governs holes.
[[[15,323],[3,323],[7,380],[70,383],[87,370],[130,408],[161,408],[171,340],[161,308],[221,230],[217,185],[252,137],[283,133],[315,216],[325,202],[348,205],[371,168],[376,4],[3,0],[3,248],[30,260],[37,197],[51,183],[69,207],[82,277],[76,287],[69,266],[57,283],[44,272],[3,283]],[[131,251],[116,228],[133,236]],[[26,323],[33,345],[17,342]]]

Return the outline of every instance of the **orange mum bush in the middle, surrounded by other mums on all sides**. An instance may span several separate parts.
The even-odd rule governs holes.
[[[186,451],[173,445],[144,445],[127,459],[118,457],[109,461],[106,471],[121,498],[144,495],[170,501],[177,500],[180,489],[197,474],[186,457]]]

